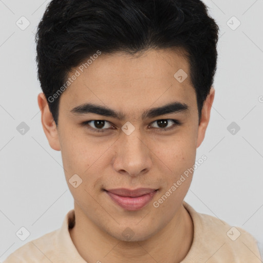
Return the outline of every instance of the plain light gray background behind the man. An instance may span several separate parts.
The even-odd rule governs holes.
[[[73,198],[61,152],[48,144],[37,94],[34,33],[49,1],[0,1],[0,260],[26,242],[61,227]],[[216,96],[185,201],[201,213],[241,227],[263,241],[263,1],[206,0],[220,27]],[[30,25],[21,30],[16,21]],[[241,25],[232,30],[235,16]],[[229,23],[236,26],[237,21]],[[262,97],[260,97],[262,96]],[[239,132],[227,127],[235,122]],[[25,122],[25,135],[16,127]],[[15,233],[25,227],[30,236]]]

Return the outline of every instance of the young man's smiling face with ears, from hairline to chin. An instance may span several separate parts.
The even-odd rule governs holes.
[[[189,65],[174,51],[150,50],[139,58],[123,53],[102,53],[83,72],[76,69],[80,76],[60,98],[58,129],[47,104],[42,110],[49,144],[62,153],[75,210],[82,220],[89,220],[119,240],[126,239],[127,227],[132,229],[133,240],[149,238],[182,209],[192,174],[184,176],[186,179],[180,185],[177,181],[195,164],[196,148],[209,122],[214,89],[206,99],[198,125],[196,93],[190,84]],[[174,77],[179,69],[188,74],[181,83],[180,76]],[[188,109],[169,114],[159,112],[155,117],[145,113],[175,102],[187,105]],[[124,117],[71,111],[85,103],[121,112]],[[39,105],[45,105],[43,94],[39,95]],[[85,121],[91,122],[82,126]],[[102,129],[104,132],[96,132]],[[81,184],[76,176],[70,179],[75,174],[82,179]],[[77,181],[72,183],[77,187],[69,181]],[[174,183],[178,187],[173,191]],[[140,187],[157,192],[147,203],[140,203],[136,198],[138,204],[119,205],[105,191]],[[164,195],[166,198],[158,201]]]

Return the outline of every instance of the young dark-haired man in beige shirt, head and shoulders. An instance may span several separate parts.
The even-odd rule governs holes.
[[[38,103],[74,209],[5,262],[261,262],[252,235],[183,200],[217,41],[199,0],[50,2],[36,34]]]

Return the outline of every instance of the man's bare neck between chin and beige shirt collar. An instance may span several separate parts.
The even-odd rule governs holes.
[[[74,211],[76,223],[69,233],[87,262],[179,263],[192,245],[193,221],[183,205],[161,231],[142,241],[118,240],[98,228],[78,206]]]

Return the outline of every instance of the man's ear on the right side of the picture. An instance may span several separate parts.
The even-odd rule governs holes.
[[[208,97],[206,97],[204,104],[203,104],[200,123],[198,126],[198,137],[197,137],[196,148],[198,148],[201,145],[201,143],[204,139],[205,130],[208,127],[208,123],[209,123],[209,119],[210,119],[210,111],[212,108],[214,97],[215,97],[215,89],[212,86],[210,89],[210,93],[209,93]]]

